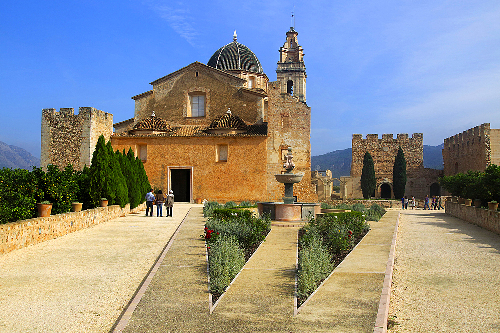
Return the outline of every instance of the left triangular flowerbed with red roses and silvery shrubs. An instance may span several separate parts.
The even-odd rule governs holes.
[[[209,288],[213,302],[229,286],[270,229],[269,216],[257,218],[246,210],[213,210],[201,235],[208,248]]]

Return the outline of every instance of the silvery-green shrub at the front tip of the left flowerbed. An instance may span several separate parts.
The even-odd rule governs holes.
[[[222,294],[245,265],[241,244],[234,237],[220,237],[210,245],[210,291]]]

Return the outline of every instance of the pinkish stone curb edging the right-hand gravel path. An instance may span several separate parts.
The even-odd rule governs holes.
[[[382,295],[380,296],[380,305],[375,320],[375,328],[373,333],[387,332],[387,321],[389,319],[389,303],[390,303],[390,287],[392,285],[392,272],[394,271],[394,255],[396,251],[397,228],[399,226],[399,217],[401,212],[397,213],[396,227],[394,228],[394,236],[390,245],[389,259],[385,270],[385,278],[383,279]]]

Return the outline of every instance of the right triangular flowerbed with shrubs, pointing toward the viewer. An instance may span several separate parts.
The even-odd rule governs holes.
[[[369,231],[364,212],[327,213],[300,228],[298,290],[300,306]]]

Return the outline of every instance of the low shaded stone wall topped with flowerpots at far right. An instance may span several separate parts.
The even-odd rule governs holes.
[[[485,208],[475,208],[474,206],[465,206],[456,202],[446,201],[445,212],[451,216],[500,234],[500,211],[490,211]]]

